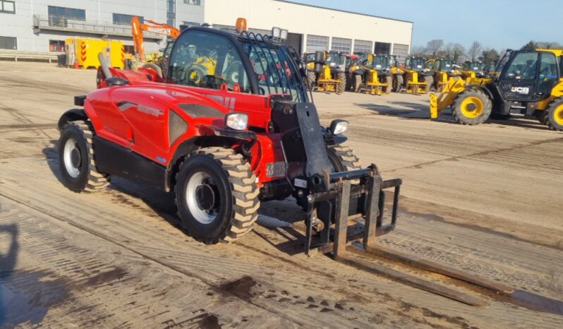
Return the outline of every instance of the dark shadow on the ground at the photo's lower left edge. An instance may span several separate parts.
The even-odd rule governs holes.
[[[2,211],[0,205],[0,213]],[[0,225],[0,237],[11,239],[6,253],[0,252],[0,328],[8,328],[11,324],[8,323],[8,309],[10,308],[9,294],[6,289],[6,281],[13,275],[13,270],[16,268],[16,261],[18,258],[18,226],[16,224]]]

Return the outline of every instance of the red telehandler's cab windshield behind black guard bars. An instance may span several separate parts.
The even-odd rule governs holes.
[[[243,49],[250,59],[258,80],[261,95],[291,95],[293,102],[308,102],[305,85],[301,79],[297,54],[269,37],[245,33],[241,38]]]

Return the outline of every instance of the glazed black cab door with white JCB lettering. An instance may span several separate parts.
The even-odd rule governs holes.
[[[530,102],[538,88],[538,52],[519,52],[504,66],[500,90],[504,100]]]

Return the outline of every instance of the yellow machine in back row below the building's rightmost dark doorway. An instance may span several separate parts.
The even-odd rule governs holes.
[[[353,72],[353,91],[370,95],[389,94],[393,85],[391,68],[395,67],[395,56],[369,54],[363,65]]]

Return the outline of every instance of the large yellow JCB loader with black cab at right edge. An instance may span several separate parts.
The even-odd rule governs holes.
[[[562,54],[561,49],[509,50],[491,78],[450,78],[442,93],[430,94],[430,119],[449,107],[460,124],[519,114],[563,131]]]

